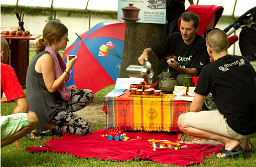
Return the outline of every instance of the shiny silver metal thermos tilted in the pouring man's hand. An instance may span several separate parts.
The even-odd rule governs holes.
[[[154,75],[152,68],[147,68],[141,65],[130,65],[126,69],[126,74],[130,78],[148,78],[151,79]]]

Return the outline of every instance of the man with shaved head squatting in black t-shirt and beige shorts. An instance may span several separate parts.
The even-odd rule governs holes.
[[[208,31],[206,46],[212,63],[202,69],[190,112],[179,116],[178,125],[186,134],[224,143],[217,157],[252,151],[250,138],[256,137],[255,70],[244,56],[228,55],[227,35],[221,30]],[[201,111],[209,93],[218,110]],[[239,146],[239,151],[234,150]]]

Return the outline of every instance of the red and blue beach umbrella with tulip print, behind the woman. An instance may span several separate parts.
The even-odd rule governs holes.
[[[79,35],[63,54],[78,59],[67,85],[90,89],[93,93],[115,84],[122,59],[125,23],[102,22]]]

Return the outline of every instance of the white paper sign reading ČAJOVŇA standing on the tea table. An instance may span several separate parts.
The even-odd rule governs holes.
[[[131,84],[140,84],[144,78],[117,78],[115,82],[115,89],[130,89]]]

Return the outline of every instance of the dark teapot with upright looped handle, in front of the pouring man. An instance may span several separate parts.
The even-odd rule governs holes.
[[[167,70],[167,69],[165,69],[165,70]],[[163,78],[164,71],[161,74],[162,78]],[[167,78],[163,78],[160,81],[159,89],[162,90],[163,92],[172,92],[172,91],[174,91],[175,85],[178,85],[177,81],[174,78],[171,78],[170,76],[168,76]]]

